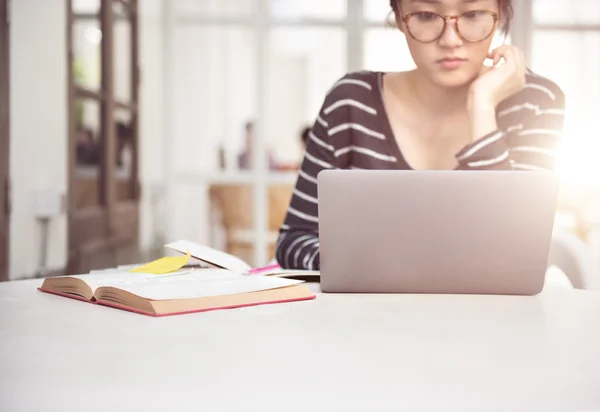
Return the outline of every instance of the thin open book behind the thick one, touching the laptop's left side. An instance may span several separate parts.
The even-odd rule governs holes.
[[[269,265],[263,268],[253,268],[237,256],[187,240],[178,240],[165,245],[165,248],[182,254],[189,252],[191,257],[211,266],[230,270],[238,274],[263,275],[313,280],[319,277],[318,271],[282,269],[279,265]]]

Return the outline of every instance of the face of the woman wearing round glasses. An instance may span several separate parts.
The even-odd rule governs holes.
[[[399,4],[398,27],[406,35],[417,67],[432,82],[460,87],[479,75],[500,23],[489,13],[499,15],[497,0],[400,0]],[[412,13],[417,14],[404,22],[403,17]],[[446,18],[444,28],[444,20],[437,15],[463,17],[458,21]]]

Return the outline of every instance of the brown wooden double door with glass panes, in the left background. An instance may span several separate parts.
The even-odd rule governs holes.
[[[85,273],[137,259],[138,3],[68,0],[67,5],[67,271]]]

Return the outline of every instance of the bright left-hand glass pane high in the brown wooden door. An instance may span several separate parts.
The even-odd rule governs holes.
[[[100,42],[102,32],[95,20],[76,20],[73,24],[73,76],[75,84],[99,90],[102,81]]]

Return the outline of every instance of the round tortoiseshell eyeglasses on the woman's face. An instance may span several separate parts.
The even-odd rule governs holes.
[[[418,11],[402,17],[408,34],[421,43],[439,40],[446,31],[448,20],[454,20],[454,29],[461,39],[478,43],[494,33],[498,14],[489,10],[472,10],[459,16],[442,16],[430,11]]]

